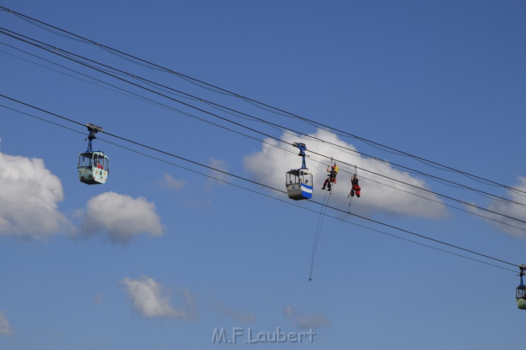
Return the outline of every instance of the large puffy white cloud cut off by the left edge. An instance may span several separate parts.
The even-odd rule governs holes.
[[[45,238],[70,229],[62,183],[39,158],[0,152],[0,235]]]

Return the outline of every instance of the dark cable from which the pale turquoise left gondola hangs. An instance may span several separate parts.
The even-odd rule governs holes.
[[[4,98],[7,98],[9,100],[12,100],[12,101],[15,101],[15,102],[19,102],[19,103],[22,103],[24,105],[26,105],[27,107],[31,107],[31,108],[34,108],[38,111],[41,111],[41,112],[44,112],[44,113],[47,113],[47,114],[50,114],[50,115],[53,115],[57,118],[60,118],[60,119],[63,119],[63,120],[66,120],[66,121],[69,121],[69,122],[72,122],[72,123],[75,123],[77,125],[80,125],[80,126],[85,126],[85,124],[82,124],[80,122],[77,122],[73,119],[69,119],[69,118],[66,118],[64,116],[61,116],[61,115],[58,115],[56,113],[53,113],[53,112],[49,112],[49,111],[46,111],[44,109],[41,109],[41,108],[38,108],[38,107],[35,107],[31,104],[28,104],[28,103],[25,103],[25,102],[20,102],[20,101],[17,101],[15,99],[12,99],[12,98],[8,98],[4,95],[1,95],[1,97],[4,97]],[[26,114],[26,113],[25,113]],[[39,118],[40,119],[40,118]],[[158,153],[161,153],[161,154],[164,154],[164,155],[167,155],[167,156],[171,156],[171,157],[175,157],[179,160],[182,160],[182,161],[185,161],[185,162],[189,162],[191,164],[194,164],[194,165],[198,165],[198,166],[201,166],[201,167],[205,167],[205,168],[208,168],[210,170],[213,170],[213,171],[217,171],[217,172],[220,172],[220,173],[223,173],[225,175],[229,175],[229,176],[232,176],[232,177],[235,177],[235,178],[238,178],[238,179],[241,179],[242,181],[246,181],[246,182],[249,182],[251,184],[255,184],[255,185],[258,185],[258,186],[262,186],[262,187],[266,187],[268,189],[272,189],[272,190],[275,190],[277,192],[280,192],[280,193],[285,193],[284,190],[281,190],[281,189],[277,189],[275,187],[272,187],[272,186],[269,186],[269,185],[265,185],[265,184],[262,184],[262,183],[259,183],[257,181],[253,181],[251,179],[248,179],[248,178],[245,178],[245,177],[242,177],[242,176],[239,176],[239,175],[235,175],[235,174],[232,174],[232,173],[228,173],[226,171],[222,171],[221,169],[217,169],[217,168],[214,168],[214,167],[211,167],[211,166],[208,166],[208,165],[205,165],[205,164],[202,164],[202,163],[199,163],[199,162],[195,162],[195,161],[192,161],[192,160],[189,160],[188,158],[185,158],[185,157],[181,157],[181,156],[178,156],[178,155],[175,155],[173,153],[170,153],[170,152],[167,152],[167,151],[163,151],[163,150],[160,150],[160,149],[157,149],[156,147],[152,147],[152,146],[148,146],[146,144],[143,144],[143,143],[140,143],[140,142],[136,142],[136,141],[133,141],[133,140],[130,140],[130,139],[127,139],[125,137],[122,137],[122,136],[118,136],[116,134],[112,134],[112,133],[108,133],[106,131],[104,131],[105,134],[109,135],[109,136],[113,136],[115,137],[116,139],[119,139],[119,140],[122,140],[122,141],[126,141],[128,143],[131,143],[131,144],[135,144],[137,146],[141,146],[141,147],[144,147],[148,150],[151,150],[151,151],[155,151],[155,152],[158,152]],[[125,148],[125,147],[124,147]],[[323,203],[319,203],[318,201],[315,201],[315,200],[309,200],[310,203],[315,203],[317,205],[323,205]],[[361,215],[358,215],[358,214],[355,214],[355,213],[348,213],[347,211],[345,210],[342,210],[342,209],[339,209],[339,208],[335,208],[335,207],[332,207],[332,206],[328,206],[326,205],[328,208],[331,208],[333,210],[336,210],[336,211],[340,211],[341,213],[345,213],[345,214],[350,214],[354,217],[357,217],[357,218],[360,218],[360,219],[363,219],[363,220],[367,220],[369,222],[373,222],[375,224],[378,224],[378,225],[382,225],[382,226],[385,226],[385,227],[388,227],[388,228],[391,228],[391,229],[395,229],[395,230],[399,230],[401,232],[404,232],[406,234],[409,234],[409,235],[413,235],[413,236],[416,236],[416,237],[420,237],[420,238],[423,238],[423,239],[427,239],[427,240],[430,240],[430,241],[433,241],[433,242],[436,242],[436,243],[439,243],[439,244],[442,244],[442,245],[445,245],[445,246],[448,246],[448,247],[451,247],[451,248],[454,248],[454,249],[459,249],[459,250],[462,250],[462,251],[466,251],[466,252],[469,252],[471,254],[475,254],[477,256],[480,256],[480,257],[484,257],[484,258],[487,258],[487,259],[491,259],[491,260],[494,260],[494,261],[498,261],[498,262],[501,262],[501,263],[504,263],[504,264],[508,264],[508,265],[511,265],[511,266],[514,266],[514,267],[519,267],[520,264],[514,264],[514,263],[511,263],[511,262],[508,262],[508,261],[505,261],[505,260],[501,260],[501,259],[498,259],[498,258],[494,258],[494,257],[491,257],[491,256],[488,256],[487,254],[482,254],[482,253],[479,253],[479,252],[476,252],[476,251],[473,251],[473,250],[470,250],[470,249],[466,249],[466,248],[462,248],[460,246],[456,246],[456,245],[452,245],[451,243],[447,243],[447,242],[444,242],[444,241],[441,241],[441,240],[438,240],[438,239],[434,239],[434,238],[431,238],[431,237],[428,237],[428,236],[424,236],[424,235],[421,235],[421,234],[417,234],[416,232],[412,232],[410,230],[406,230],[406,229],[402,229],[402,228],[399,228],[399,227],[396,227],[396,226],[393,226],[393,225],[390,225],[390,224],[386,224],[384,222],[381,222],[381,221],[378,221],[378,220],[374,220],[374,219],[371,219],[371,218],[368,218],[368,217],[365,217],[365,216],[361,216]],[[308,209],[310,210],[310,209]],[[342,220],[342,221],[345,221],[345,220]],[[348,222],[348,221],[347,221]],[[350,222],[352,223],[352,222]],[[397,237],[397,236],[394,236],[394,237]],[[403,238],[402,238],[403,239]],[[407,240],[407,239],[404,239],[404,240]],[[421,243],[419,243],[421,244]],[[425,245],[424,245],[425,246]],[[440,249],[438,249],[440,250]],[[455,255],[458,255],[456,253],[453,253]],[[460,256],[460,255],[459,255]],[[464,257],[464,256],[461,256],[461,257]],[[465,257],[465,258],[468,258],[468,259],[471,259],[471,260],[476,260],[476,259],[472,259],[472,258],[469,258],[469,257]],[[476,260],[478,261],[478,260]],[[482,261],[479,261],[479,262],[482,262]],[[499,267],[499,266],[497,266]],[[506,269],[506,268],[503,268],[503,267],[500,267],[502,269]],[[507,269],[507,270],[510,270],[510,269]],[[515,272],[514,270],[510,270],[510,271],[513,271]]]

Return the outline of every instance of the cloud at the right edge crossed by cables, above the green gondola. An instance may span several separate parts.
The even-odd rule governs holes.
[[[518,178],[519,182],[512,186],[515,189],[518,189],[520,191],[526,192],[526,177],[519,176]],[[517,193],[514,190],[507,190],[507,195],[504,196],[505,198],[509,198],[512,201],[515,201],[517,203],[526,203],[526,199],[524,198],[524,194]],[[517,218],[522,221],[526,221],[526,210],[524,210],[524,206],[514,204],[514,203],[507,203],[503,201],[497,201],[493,202],[496,204],[489,205],[487,209],[495,211],[497,213],[501,213],[503,215],[507,215],[509,217]],[[470,210],[473,210],[470,208]],[[515,236],[515,237],[521,237],[526,238],[526,231],[521,230],[516,227],[524,227],[525,225],[522,224],[522,222],[519,222],[517,220],[513,220],[507,217],[502,217],[501,215],[493,214],[493,213],[487,213],[486,211],[477,210],[477,213],[489,217],[491,219],[499,220],[501,222],[505,222],[508,225],[499,224],[495,221],[490,221],[492,225],[495,225],[496,227],[504,230],[508,234]],[[511,225],[511,226],[510,226]]]

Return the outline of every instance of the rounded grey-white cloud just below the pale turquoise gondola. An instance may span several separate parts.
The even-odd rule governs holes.
[[[86,203],[81,230],[85,236],[106,231],[108,237],[126,245],[142,233],[163,234],[155,205],[143,197],[132,198],[115,192],[100,194]]]

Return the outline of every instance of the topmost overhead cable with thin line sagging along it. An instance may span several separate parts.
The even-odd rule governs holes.
[[[483,177],[480,177],[480,176],[477,176],[477,175],[473,175],[473,174],[470,174],[470,173],[467,173],[467,172],[463,172],[463,171],[461,171],[459,169],[456,169],[456,168],[453,168],[453,167],[450,167],[450,166],[447,166],[447,165],[443,165],[443,164],[440,164],[440,163],[437,163],[437,162],[433,162],[431,160],[427,160],[426,158],[423,158],[423,157],[420,157],[420,156],[416,156],[416,155],[413,155],[413,154],[410,154],[408,152],[404,152],[404,151],[401,151],[401,150],[397,150],[397,149],[395,149],[393,147],[381,144],[379,142],[371,141],[371,140],[365,139],[363,137],[360,137],[360,136],[357,136],[357,135],[353,135],[351,133],[348,133],[348,132],[345,132],[345,131],[342,131],[342,130],[339,130],[339,129],[336,129],[336,128],[332,128],[329,125],[325,125],[323,123],[320,123],[320,122],[317,122],[317,121],[314,121],[314,120],[310,120],[308,118],[296,115],[294,113],[287,112],[285,110],[281,110],[281,109],[276,108],[276,107],[272,107],[271,105],[268,105],[268,104],[266,104],[264,102],[260,102],[260,101],[257,101],[257,100],[254,100],[254,99],[242,96],[239,93],[231,92],[229,90],[226,90],[226,89],[214,86],[213,84],[207,83],[205,81],[201,81],[201,80],[195,79],[193,77],[184,75],[183,73],[176,72],[173,69],[168,69],[166,67],[157,65],[156,63],[153,63],[153,62],[150,62],[150,61],[147,61],[147,60],[135,57],[133,55],[127,54],[126,52],[117,50],[115,48],[106,46],[104,44],[100,44],[100,43],[98,43],[98,42],[96,42],[94,40],[90,40],[90,39],[82,37],[80,35],[71,33],[70,31],[67,31],[65,29],[58,28],[56,26],[53,26],[53,25],[50,25],[48,23],[42,22],[41,20],[38,20],[36,18],[32,18],[32,17],[26,16],[26,15],[24,15],[22,13],[18,13],[16,11],[8,9],[8,8],[6,8],[4,6],[0,6],[0,9],[2,9],[4,12],[8,12],[10,14],[14,14],[17,17],[22,18],[22,19],[26,20],[27,22],[32,23],[32,24],[34,24],[34,25],[36,25],[36,26],[38,26],[40,28],[46,29],[43,26],[46,26],[48,28],[52,28],[53,30],[46,29],[48,31],[51,31],[52,33],[55,33],[55,34],[58,34],[58,35],[62,35],[62,36],[65,36],[65,35],[60,34],[60,33],[65,33],[65,34],[67,34],[65,36],[66,38],[70,38],[70,39],[74,39],[74,40],[77,40],[77,41],[81,41],[81,42],[86,43],[86,44],[92,44],[92,45],[95,45],[97,47],[103,48],[106,51],[115,52],[116,54],[118,54],[119,57],[122,57],[122,58],[127,57],[127,58],[133,59],[133,60],[128,59],[131,62],[135,62],[137,64],[140,64],[140,65],[142,65],[144,67],[148,67],[148,68],[151,68],[151,69],[155,69],[155,70],[159,70],[159,71],[165,71],[165,72],[171,73],[173,75],[177,75],[177,76],[179,76],[181,78],[184,78],[187,81],[193,81],[193,82],[196,82],[198,84],[203,84],[206,87],[210,87],[212,89],[215,89],[217,92],[228,94],[229,96],[240,98],[242,100],[250,102],[251,104],[264,107],[265,110],[267,110],[267,111],[274,111],[275,113],[280,114],[280,115],[292,116],[294,118],[297,118],[297,119],[300,119],[302,121],[308,122],[311,125],[312,124],[319,125],[319,126],[322,126],[323,128],[328,128],[330,130],[343,133],[345,135],[348,135],[349,137],[353,137],[353,138],[355,138],[355,139],[357,139],[359,141],[368,143],[370,145],[372,144],[372,145],[376,145],[378,147],[382,147],[382,149],[389,150],[389,151],[391,151],[391,153],[408,156],[410,158],[413,158],[415,160],[418,160],[418,161],[422,162],[423,164],[431,165],[431,166],[434,166],[436,168],[443,169],[443,170],[446,170],[446,171],[459,173],[459,174],[464,175],[464,176],[466,176],[466,177],[468,177],[470,179],[473,179],[474,181],[478,181],[478,182],[485,183],[485,184],[492,185],[492,186],[499,186],[499,187],[507,188],[509,190],[512,190],[514,193],[520,194],[521,196],[526,195],[526,191],[524,191],[524,190],[520,190],[520,189],[511,187],[511,186],[508,186],[508,185],[504,185],[504,184],[501,184],[501,183],[498,183],[498,182],[494,182],[494,181],[492,181],[490,179],[487,179],[487,178],[483,178]],[[57,31],[59,31],[60,33],[57,33]],[[138,61],[138,62],[136,62],[136,61]],[[146,65],[144,63],[146,63]],[[211,89],[209,89],[209,90],[211,90]],[[212,90],[212,91],[214,91],[214,90]]]

